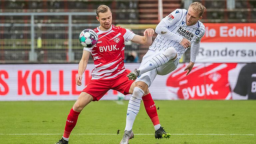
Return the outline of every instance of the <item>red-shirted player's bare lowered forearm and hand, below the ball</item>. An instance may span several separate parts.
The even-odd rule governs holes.
[[[83,75],[83,73],[84,73],[84,71],[87,67],[89,57],[90,57],[90,52],[84,50],[82,58],[81,58],[81,60],[79,62],[79,65],[78,65],[78,76],[76,77],[76,84],[78,86],[82,85],[82,75]]]

